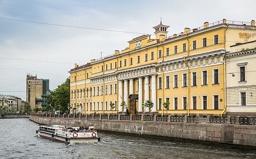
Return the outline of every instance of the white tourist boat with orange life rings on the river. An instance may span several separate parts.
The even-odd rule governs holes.
[[[36,134],[57,141],[67,143],[98,142],[100,138],[93,126],[87,128],[63,126],[63,125],[42,125],[36,130]]]

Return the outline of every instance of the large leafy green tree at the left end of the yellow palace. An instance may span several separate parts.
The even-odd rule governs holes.
[[[47,100],[50,107],[47,107],[46,110],[54,109],[61,113],[67,113],[70,100],[70,78],[67,78],[65,83],[62,83],[55,91],[51,92]]]

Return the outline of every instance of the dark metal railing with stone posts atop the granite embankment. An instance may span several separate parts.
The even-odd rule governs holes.
[[[155,122],[176,122],[176,123],[201,123],[200,116],[172,116],[172,115],[116,115],[116,114],[30,114],[32,116],[46,118],[77,118],[97,120],[134,120],[134,121],[155,121]],[[211,124],[236,124],[256,125],[255,117],[219,117],[207,116],[206,123]]]

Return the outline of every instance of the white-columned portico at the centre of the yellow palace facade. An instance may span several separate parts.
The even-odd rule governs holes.
[[[127,109],[130,107],[129,96],[131,94],[138,94],[138,100],[136,102],[136,112],[153,112],[157,113],[157,94],[156,94],[156,75],[155,66],[128,69],[116,72],[118,74],[118,103],[119,113],[125,112],[124,108],[121,107],[122,101],[127,104]],[[146,100],[152,100],[154,106],[149,108],[142,108],[142,103]]]

